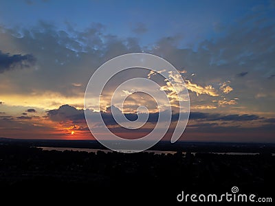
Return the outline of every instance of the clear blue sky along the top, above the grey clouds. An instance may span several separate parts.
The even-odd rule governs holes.
[[[30,27],[46,21],[62,30],[67,23],[77,30],[100,23],[104,32],[138,36],[143,45],[179,35],[187,47],[219,36],[216,27],[234,25],[271,6],[272,1],[2,1],[0,23]],[[265,10],[264,15],[274,18],[273,11]]]

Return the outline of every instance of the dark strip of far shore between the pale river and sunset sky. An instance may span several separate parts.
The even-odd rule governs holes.
[[[10,139],[0,137],[0,144],[28,147],[76,148],[78,150],[108,150],[108,148],[105,148],[96,140]],[[158,144],[149,150],[171,152],[216,152],[221,154],[230,152],[274,154],[275,144],[186,141],[177,141],[175,144],[171,144],[169,141],[159,141]]]

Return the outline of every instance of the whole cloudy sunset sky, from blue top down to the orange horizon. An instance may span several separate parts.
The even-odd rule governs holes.
[[[84,116],[89,78],[133,52],[168,60],[184,79],[190,118],[181,141],[275,142],[275,1],[252,0],[1,1],[0,137],[93,139]],[[124,138],[149,133],[166,112],[129,88],[125,105],[113,108],[134,120],[147,106],[148,122],[136,131],[115,124],[113,89],[137,76],[171,98],[159,74],[132,69],[108,82],[101,111],[89,108]],[[172,106],[164,139],[177,122]]]

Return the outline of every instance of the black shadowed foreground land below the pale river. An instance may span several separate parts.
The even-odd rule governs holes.
[[[275,156],[59,152],[0,144],[0,195],[12,200],[177,203],[189,194],[239,193],[274,198]],[[266,203],[267,205],[270,205]]]

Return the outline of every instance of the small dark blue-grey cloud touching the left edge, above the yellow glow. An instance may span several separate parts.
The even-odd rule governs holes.
[[[9,53],[4,54],[0,51],[0,73],[8,71],[19,67],[23,69],[24,67],[31,67],[36,62],[36,58],[32,54],[14,54]]]

